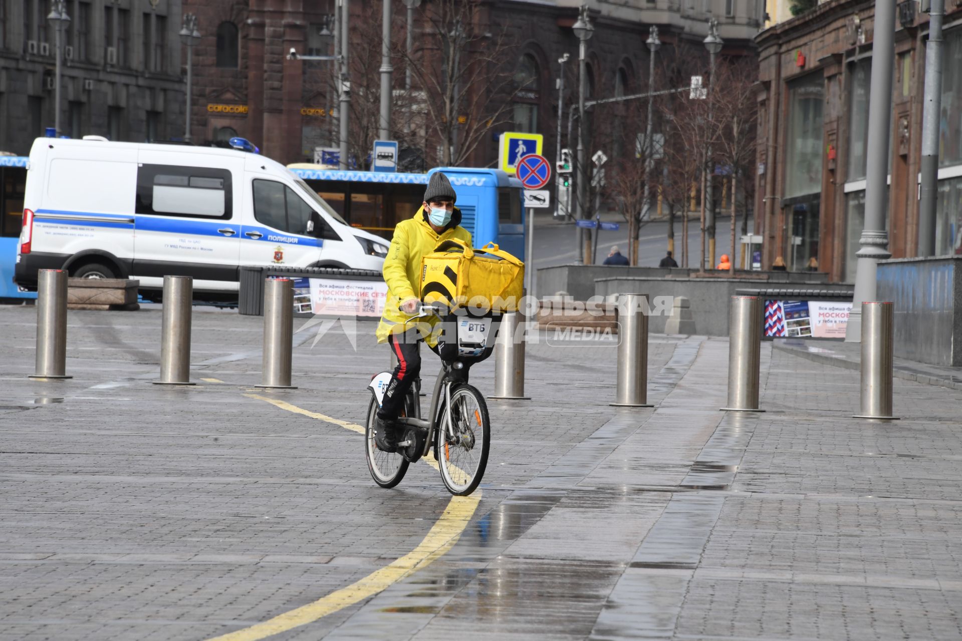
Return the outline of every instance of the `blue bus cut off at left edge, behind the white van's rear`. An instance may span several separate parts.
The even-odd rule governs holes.
[[[27,159],[0,155],[0,300],[37,298],[13,283],[16,244],[23,220],[23,191],[27,184]]]

